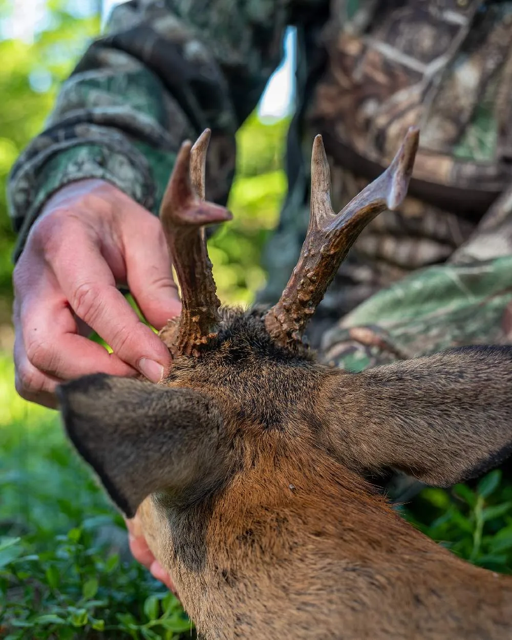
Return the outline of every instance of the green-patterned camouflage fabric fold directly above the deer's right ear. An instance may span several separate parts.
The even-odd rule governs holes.
[[[445,264],[383,289],[323,336],[348,371],[471,344],[512,342],[512,187]]]

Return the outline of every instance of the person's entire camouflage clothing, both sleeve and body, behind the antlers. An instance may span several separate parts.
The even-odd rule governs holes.
[[[156,212],[180,141],[212,129],[207,196],[225,202],[234,134],[298,30],[289,192],[266,250],[282,291],[308,220],[313,134],[340,208],[421,127],[398,212],[364,231],[311,332],[352,370],[512,336],[512,2],[132,0],[63,84],[47,129],[12,170],[17,255],[53,191],[113,182]]]

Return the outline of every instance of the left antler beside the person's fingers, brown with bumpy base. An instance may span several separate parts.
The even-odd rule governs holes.
[[[160,207],[160,220],[181,287],[182,311],[173,353],[192,355],[214,337],[220,300],[206,249],[204,226],[231,220],[227,209],[204,202],[210,130],[180,148]]]

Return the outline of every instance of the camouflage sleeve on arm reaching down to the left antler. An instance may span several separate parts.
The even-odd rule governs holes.
[[[47,128],[13,166],[15,259],[45,200],[74,180],[109,180],[157,211],[180,142],[207,126],[214,158],[207,191],[225,201],[234,134],[282,58],[291,4],[132,0],[118,6],[106,35],[63,84]]]

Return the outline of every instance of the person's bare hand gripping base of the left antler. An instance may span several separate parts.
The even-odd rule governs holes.
[[[180,313],[170,264],[159,220],[112,184],[80,180],[57,191],[13,273],[20,396],[55,408],[56,386],[86,374],[161,380],[168,349],[116,285],[129,286],[159,329]],[[91,328],[112,354],[85,337]]]

